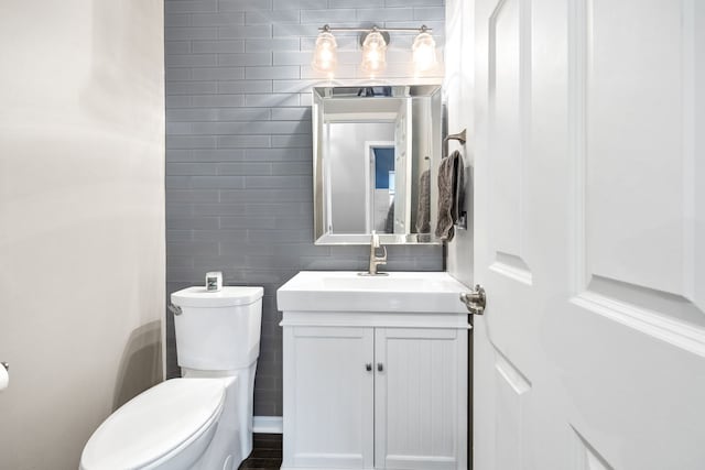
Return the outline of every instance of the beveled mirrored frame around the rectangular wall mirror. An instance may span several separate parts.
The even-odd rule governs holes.
[[[429,97],[432,100],[437,100],[432,103],[437,108],[437,122],[433,122],[432,130],[432,146],[433,153],[431,155],[431,167],[437,168],[442,157],[442,120],[443,120],[443,97],[442,86],[440,84],[431,85],[336,85],[336,86],[322,86],[314,87],[312,89],[312,132],[313,132],[313,212],[314,212],[314,244],[318,245],[332,245],[332,244],[369,244],[370,233],[330,233],[325,228],[325,194],[324,194],[324,181],[323,181],[323,100],[325,98],[334,97],[335,88],[370,88],[370,87],[390,87],[392,89],[391,98],[414,98],[414,97]],[[354,97],[351,97],[354,99]],[[435,175],[431,175],[432,185],[435,182]],[[427,240],[420,241],[419,233],[378,233],[380,243],[382,244],[443,244],[443,241],[435,237],[433,214],[435,214],[435,207],[433,207],[432,199],[432,228],[430,233],[423,233]]]

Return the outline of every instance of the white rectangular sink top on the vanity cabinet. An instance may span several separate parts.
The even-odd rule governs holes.
[[[276,291],[282,311],[467,313],[467,287],[445,272],[302,271]]]

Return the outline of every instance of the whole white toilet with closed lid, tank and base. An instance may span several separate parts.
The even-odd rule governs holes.
[[[171,295],[182,379],[110,415],[82,470],[236,470],[252,451],[252,395],[262,287],[188,287]]]

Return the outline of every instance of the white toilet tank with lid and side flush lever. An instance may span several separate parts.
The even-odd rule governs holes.
[[[188,287],[171,295],[176,356],[182,368],[231,371],[260,353],[262,287],[227,286],[218,292]]]

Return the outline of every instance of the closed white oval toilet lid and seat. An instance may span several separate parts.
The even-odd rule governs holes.
[[[154,469],[189,446],[203,447],[189,449],[196,459],[215,433],[225,395],[220,379],[172,379],[147,390],[94,433],[82,470]]]

